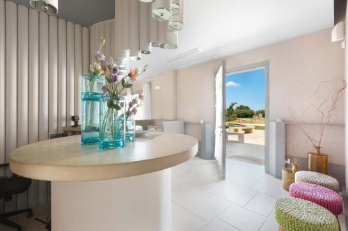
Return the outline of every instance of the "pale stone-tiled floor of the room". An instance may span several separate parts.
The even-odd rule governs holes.
[[[226,166],[224,181],[214,161],[199,157],[173,168],[172,231],[278,230],[274,203],[289,196],[281,181],[265,174],[260,165],[227,159]],[[34,210],[41,219],[47,214],[49,207]],[[13,220],[23,224],[23,231],[45,231],[44,225],[26,216]],[[3,225],[0,230],[13,231]]]

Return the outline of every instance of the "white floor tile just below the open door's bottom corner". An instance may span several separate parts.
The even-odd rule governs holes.
[[[258,193],[257,191],[246,189],[226,180],[208,185],[207,191],[240,206],[246,205]]]

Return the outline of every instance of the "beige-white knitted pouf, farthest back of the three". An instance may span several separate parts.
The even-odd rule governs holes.
[[[335,192],[338,192],[340,189],[340,185],[338,184],[338,180],[331,176],[327,176],[322,173],[317,173],[315,171],[298,171],[295,173],[295,182],[304,182],[315,185],[320,185],[322,187],[326,187]]]

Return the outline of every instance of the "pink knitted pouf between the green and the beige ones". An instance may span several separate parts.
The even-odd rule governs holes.
[[[342,197],[331,189],[327,189],[320,185],[298,182],[290,185],[289,192],[291,197],[301,198],[316,203],[328,209],[335,216],[343,212]]]

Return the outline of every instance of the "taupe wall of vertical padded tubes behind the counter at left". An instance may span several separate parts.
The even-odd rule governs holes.
[[[106,27],[102,33],[111,40]],[[72,115],[81,116],[79,85],[88,73],[90,34],[89,28],[0,0],[1,164],[15,148],[49,139],[72,124]],[[0,169],[0,176],[11,174]],[[32,180],[28,191],[1,201],[0,211],[48,200],[49,184]]]

